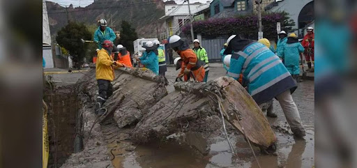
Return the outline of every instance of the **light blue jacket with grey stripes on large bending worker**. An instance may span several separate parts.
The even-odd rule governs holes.
[[[243,73],[243,80],[248,82],[248,92],[258,105],[288,89],[296,89],[296,83],[287,68],[268,47],[252,42],[242,50],[231,55],[227,75],[238,79]]]

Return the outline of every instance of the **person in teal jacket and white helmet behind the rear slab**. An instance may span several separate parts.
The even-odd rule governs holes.
[[[158,61],[158,54],[157,52],[157,47],[152,41],[146,42],[146,45],[144,46],[146,49],[146,52],[144,52],[143,56],[138,58],[137,61],[139,63],[142,63],[145,68],[148,68],[149,70],[153,71],[156,75],[159,74],[159,61]]]

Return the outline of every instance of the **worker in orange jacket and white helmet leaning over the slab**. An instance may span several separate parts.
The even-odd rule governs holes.
[[[174,61],[176,70],[181,65],[181,72],[178,77],[184,77],[185,81],[192,77],[197,82],[204,82],[204,62],[197,59],[195,52],[190,49],[188,43],[181,40],[180,36],[174,35],[169,38],[169,46],[180,55],[180,58],[176,59],[176,62]]]

